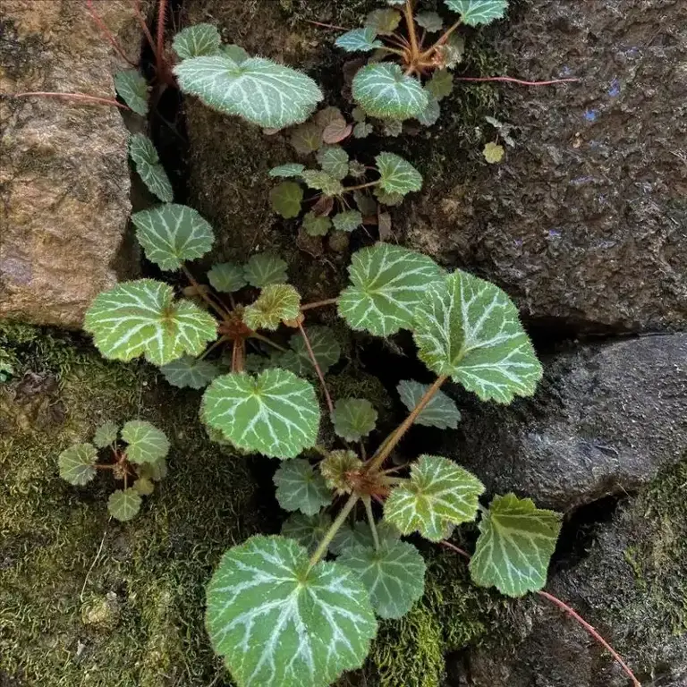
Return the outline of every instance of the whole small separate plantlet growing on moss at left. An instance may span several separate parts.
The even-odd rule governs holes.
[[[108,451],[109,462],[98,462],[98,453]],[[145,420],[129,420],[118,427],[105,422],[92,443],[74,444],[59,456],[60,477],[70,484],[83,487],[98,470],[111,471],[123,487],[107,500],[107,510],[120,522],[131,520],[140,510],[141,496],[149,496],[155,483],[165,478],[169,441],[165,433]]]

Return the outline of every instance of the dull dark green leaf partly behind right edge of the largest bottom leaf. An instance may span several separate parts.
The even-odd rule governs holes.
[[[379,548],[351,547],[337,563],[360,575],[375,613],[400,618],[425,590],[427,566],[417,548],[406,541],[383,542]]]

